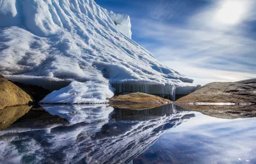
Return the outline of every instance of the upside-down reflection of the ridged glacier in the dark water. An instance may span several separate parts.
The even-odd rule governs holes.
[[[22,117],[0,131],[0,163],[128,163],[164,131],[194,117],[172,105],[135,113],[106,105],[43,107],[66,124],[24,126],[34,119]]]

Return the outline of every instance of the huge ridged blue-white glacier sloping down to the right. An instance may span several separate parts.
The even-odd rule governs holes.
[[[93,0],[0,0],[0,74],[52,91],[71,89],[74,81],[107,89],[106,95],[92,91],[88,98],[63,89],[45,103],[63,102],[63,94],[84,100],[71,101],[69,95],[68,103],[97,103],[109,92],[133,91],[131,84],[146,93],[156,93],[157,86],[156,94],[173,100],[176,87],[186,87],[186,93],[195,89],[192,79],[160,64],[131,34],[128,15],[109,12]],[[109,84],[121,87],[112,91]]]

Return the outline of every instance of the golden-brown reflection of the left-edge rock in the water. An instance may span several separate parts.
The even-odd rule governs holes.
[[[20,117],[24,116],[31,106],[20,105],[17,107],[7,107],[0,110],[0,130],[8,128],[11,124],[17,121]]]

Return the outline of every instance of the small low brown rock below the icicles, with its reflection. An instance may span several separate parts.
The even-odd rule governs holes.
[[[143,110],[156,108],[172,101],[146,93],[130,93],[115,96],[110,99],[109,104],[116,108]]]

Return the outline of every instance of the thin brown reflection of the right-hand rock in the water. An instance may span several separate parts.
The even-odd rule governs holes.
[[[256,117],[256,105],[179,105],[182,108],[197,111],[220,119]]]

